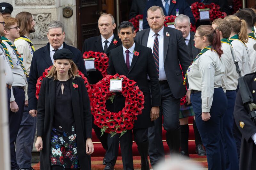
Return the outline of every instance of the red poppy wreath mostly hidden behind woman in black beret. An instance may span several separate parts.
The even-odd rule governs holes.
[[[45,78],[48,75],[48,73],[51,70],[51,68],[52,68],[52,66],[50,66],[48,69],[45,69],[44,72],[43,72],[43,76],[40,76],[37,79],[37,83],[36,83],[36,99],[38,99],[38,97],[39,97],[39,92],[40,92],[41,84],[43,82],[43,78]],[[91,97],[92,96],[92,86],[89,84],[87,78],[84,77],[84,74],[81,71],[78,70],[77,73],[78,73],[79,76],[81,76],[81,78],[84,79],[84,84],[85,84],[85,87],[87,89],[90,101],[91,101],[91,98],[92,98]],[[78,88],[78,85],[73,84],[73,87],[74,87],[74,89]]]

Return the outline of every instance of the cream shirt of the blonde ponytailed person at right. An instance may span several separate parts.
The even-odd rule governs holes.
[[[241,70],[241,75],[251,73],[251,61],[249,49],[244,45],[243,42],[239,40],[233,40],[231,42],[233,49],[236,54],[236,60],[238,61],[238,66]]]

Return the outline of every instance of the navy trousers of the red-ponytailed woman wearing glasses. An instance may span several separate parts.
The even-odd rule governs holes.
[[[199,130],[202,142],[206,149],[206,157],[209,170],[225,169],[225,152],[223,147],[223,117],[227,110],[227,97],[222,88],[215,88],[213,93],[211,118],[202,120],[201,92],[190,95],[195,117],[196,126]]]

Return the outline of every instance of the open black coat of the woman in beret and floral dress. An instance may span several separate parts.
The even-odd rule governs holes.
[[[72,83],[78,85],[74,90]],[[92,138],[92,117],[90,100],[84,85],[84,80],[76,77],[69,80],[72,108],[76,126],[77,155],[81,170],[91,169],[91,156],[87,155],[85,141]],[[44,78],[41,85],[37,106],[37,136],[43,139],[43,150],[40,151],[40,169],[51,169],[51,132],[55,107],[56,81]],[[60,106],[61,107],[61,106]],[[63,113],[65,116],[65,113]]]

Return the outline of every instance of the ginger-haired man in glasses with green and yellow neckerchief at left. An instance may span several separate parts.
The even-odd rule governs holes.
[[[16,137],[20,128],[25,102],[25,87],[27,85],[26,76],[28,73],[23,65],[23,58],[14,46],[14,40],[20,37],[19,26],[16,18],[4,18],[4,33],[1,37],[5,54],[9,56],[9,64],[12,68],[13,83],[10,99],[9,128],[10,128],[10,148],[12,170],[20,170],[17,165],[15,145]]]

